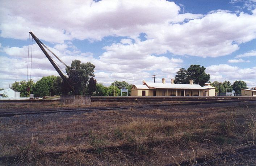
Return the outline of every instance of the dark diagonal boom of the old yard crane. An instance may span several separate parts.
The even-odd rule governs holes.
[[[35,40],[35,42],[37,42],[38,46],[41,48],[41,50],[43,51],[43,53],[45,54],[45,56],[48,58],[48,60],[51,62],[51,64],[53,65],[54,69],[58,72],[58,74],[60,75],[60,77],[62,78],[62,80],[68,85],[68,87],[70,88],[70,90],[72,92],[74,92],[77,95],[77,91],[75,91],[74,87],[71,85],[70,81],[63,75],[63,73],[60,71],[60,69],[58,68],[58,66],[54,63],[53,59],[50,57],[50,55],[45,51],[45,49],[43,48],[42,44],[40,43],[39,39],[37,39],[37,37],[32,33],[29,32],[29,34],[33,37],[33,39]]]

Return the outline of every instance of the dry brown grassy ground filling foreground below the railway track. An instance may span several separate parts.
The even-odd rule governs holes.
[[[255,145],[255,113],[256,102],[240,102],[1,117],[0,157],[17,160],[0,165],[196,164]],[[256,165],[256,155],[210,164]]]

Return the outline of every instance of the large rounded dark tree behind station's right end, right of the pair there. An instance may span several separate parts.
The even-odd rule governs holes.
[[[206,82],[210,80],[210,74],[205,73],[205,67],[200,67],[200,65],[190,65],[188,68],[188,77],[193,79],[195,84],[203,86]]]

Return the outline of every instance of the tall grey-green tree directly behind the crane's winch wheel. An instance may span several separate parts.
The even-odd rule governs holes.
[[[81,83],[76,84],[81,95],[87,94],[87,84],[88,80],[94,75],[95,65],[90,62],[82,63],[79,60],[74,60],[71,62],[71,66],[66,68],[66,73],[68,74],[71,70],[76,70],[81,76]]]

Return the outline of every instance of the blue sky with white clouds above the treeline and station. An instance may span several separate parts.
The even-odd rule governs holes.
[[[32,43],[30,31],[65,64],[94,64],[97,83],[106,86],[115,80],[153,82],[153,74],[156,82],[171,82],[180,68],[192,64],[204,66],[211,82],[243,80],[249,88],[256,86],[256,0],[0,4],[0,88],[30,75],[35,82],[58,75]]]

